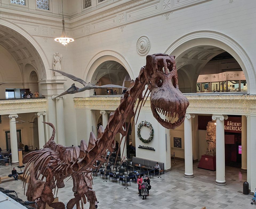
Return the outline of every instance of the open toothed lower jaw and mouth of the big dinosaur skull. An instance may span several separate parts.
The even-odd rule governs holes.
[[[151,110],[155,119],[157,119],[157,121],[167,129],[175,129],[176,127],[180,126],[181,123],[184,121],[186,114],[186,110],[180,113],[171,112],[170,110],[161,109],[152,103]],[[171,119],[168,120],[165,117]],[[165,118],[165,120],[162,118]]]

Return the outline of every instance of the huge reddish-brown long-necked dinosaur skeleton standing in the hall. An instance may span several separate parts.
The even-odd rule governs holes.
[[[90,202],[89,208],[95,208],[97,198],[92,190],[91,178],[92,170],[97,169],[94,162],[96,160],[106,161],[106,150],[112,153],[115,148],[116,134],[122,135],[121,141],[126,136],[126,118],[135,116],[139,106],[140,111],[148,90],[151,93],[151,110],[155,119],[162,126],[174,129],[184,121],[189,101],[179,91],[174,58],[174,56],[167,54],[148,55],[146,66],[142,67],[139,76],[131,81],[130,87],[121,97],[120,105],[110,114],[105,130],[102,126],[99,127],[97,139],[91,132],[88,144],[85,140],[81,140],[80,148],[56,144],[54,142],[54,126],[51,123],[46,123],[53,128],[51,138],[43,146],[43,149],[30,152],[23,159],[23,163],[27,163],[24,177],[30,174],[26,192],[27,199],[36,201],[40,209],[45,208],[46,203],[53,208],[65,208],[62,202],[53,203],[52,190],[56,187],[65,187],[64,179],[72,178],[74,198],[67,203],[67,208],[71,209],[74,205],[77,209],[83,208],[86,197]],[[66,74],[66,76],[72,75]],[[147,89],[143,96],[146,85]],[[137,107],[134,111],[136,103]],[[168,118],[178,116],[178,119],[172,123],[172,120],[168,121],[161,118],[167,115]],[[25,192],[26,181],[24,184]]]

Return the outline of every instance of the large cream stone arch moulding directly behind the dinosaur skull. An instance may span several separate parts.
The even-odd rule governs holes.
[[[165,51],[166,54],[173,54],[176,59],[187,49],[199,45],[219,47],[230,53],[241,66],[248,85],[248,93],[255,94],[256,88],[250,88],[251,83],[256,83],[256,72],[250,57],[235,40],[229,36],[216,31],[195,31],[186,34],[174,41]],[[250,77],[249,77],[250,75]]]

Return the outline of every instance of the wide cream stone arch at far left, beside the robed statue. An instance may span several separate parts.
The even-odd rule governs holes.
[[[35,65],[37,66],[35,69],[37,70],[38,79],[51,79],[52,74],[50,70],[46,70],[50,68],[50,63],[42,47],[34,39],[34,37],[17,24],[14,24],[13,22],[10,22],[3,18],[0,18],[0,25],[2,26],[2,28],[6,28],[11,33],[20,36],[22,43],[26,43],[29,46],[31,51],[30,53],[35,57]]]

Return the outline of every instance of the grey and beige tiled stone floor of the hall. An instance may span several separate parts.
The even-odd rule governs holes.
[[[135,183],[128,185],[127,190],[121,184],[111,180],[103,182],[95,177],[93,189],[98,198],[98,208],[137,209],[137,208],[256,208],[251,205],[251,195],[242,194],[242,184],[246,180],[246,173],[241,173],[238,168],[226,167],[226,186],[217,186],[215,173],[198,169],[198,163],[194,164],[194,178],[184,178],[184,161],[176,161],[172,170],[161,175],[162,178],[151,178],[150,196],[146,200],[138,197],[138,186]],[[0,175],[11,172],[11,167],[0,168]],[[73,198],[72,181],[65,182],[65,188],[59,189],[59,200],[67,204]],[[18,197],[23,200],[22,182],[4,180],[1,187],[14,189]],[[89,203],[85,205],[89,208]]]

